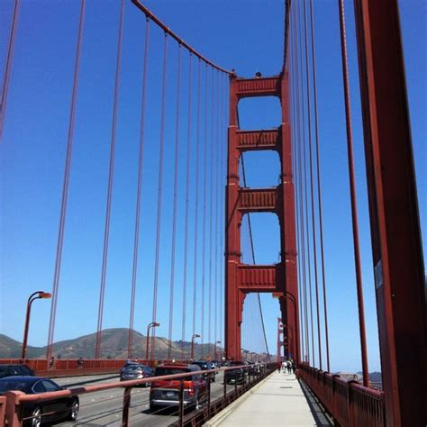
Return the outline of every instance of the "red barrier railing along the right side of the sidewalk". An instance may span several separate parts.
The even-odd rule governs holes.
[[[297,375],[340,425],[386,425],[383,391],[362,386],[357,381],[345,381],[339,375],[304,364],[299,366]]]

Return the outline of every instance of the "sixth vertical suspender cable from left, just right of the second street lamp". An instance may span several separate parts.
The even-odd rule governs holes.
[[[174,201],[172,213],[172,242],[170,257],[170,288],[169,288],[169,331],[168,331],[168,359],[171,359],[172,351],[172,329],[174,319],[174,287],[175,287],[175,253],[177,243],[177,184],[179,166],[179,119],[180,119],[180,97],[181,97],[181,44],[178,44],[177,58],[177,117],[175,123],[175,163],[174,163]]]

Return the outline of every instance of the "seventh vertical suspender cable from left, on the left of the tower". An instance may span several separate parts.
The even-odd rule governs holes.
[[[190,52],[188,65],[188,117],[186,126],[186,213],[184,225],[184,268],[182,285],[181,359],[185,358],[186,342],[186,283],[188,268],[188,219],[190,196],[190,154],[191,154],[191,114],[193,98],[193,54]]]

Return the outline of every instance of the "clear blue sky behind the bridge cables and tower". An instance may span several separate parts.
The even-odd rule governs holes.
[[[358,177],[360,241],[366,300],[370,370],[379,369],[377,314],[375,308],[368,202],[359,114],[359,81],[351,2],[346,3],[350,55],[350,85]],[[146,1],[145,4],[182,38],[223,68],[251,77],[256,71],[277,74],[282,65],[282,1]],[[335,1],[314,1],[316,60],[318,70],[319,124],[323,170],[325,262],[328,286],[332,370],[360,369],[359,329],[352,256],[350,199],[346,160],[345,122],[342,98],[338,6]],[[411,107],[413,150],[419,193],[423,241],[426,241],[426,3],[400,2],[404,56]],[[0,68],[5,61],[7,29],[12,1],[0,0]],[[13,77],[9,91],[5,132],[0,145],[0,332],[22,340],[27,295],[34,290],[50,291],[59,224],[60,191],[68,130],[68,111],[77,32],[78,2],[23,0],[14,52]],[[119,4],[112,0],[89,1],[77,99],[77,121],[68,216],[63,252],[55,340],[94,332],[102,262],[106,178],[108,174],[111,114],[114,95],[114,66]],[[141,247],[135,329],[144,332],[150,323],[157,208],[159,161],[159,111],[163,36],[152,26],[146,149],[141,210]],[[114,201],[106,278],[104,328],[127,327],[132,277],[132,242],[137,177],[139,123],[141,114],[141,69],[145,20],[126,4],[123,71],[116,142]],[[175,143],[175,86],[177,46],[169,44],[167,147]],[[188,60],[183,54],[183,76]],[[195,68],[196,69],[196,68]],[[204,73],[204,68],[202,68]],[[203,74],[204,76],[204,74]],[[226,80],[223,79],[223,84]],[[183,79],[183,93],[187,83]],[[195,95],[195,94],[194,94]],[[202,89],[204,95],[204,89]],[[204,99],[202,97],[202,99]],[[186,111],[183,95],[183,111]],[[194,96],[194,103],[196,99]],[[280,123],[275,99],[245,100],[240,105],[241,127],[274,127]],[[202,110],[202,123],[204,119]],[[226,115],[225,115],[226,117]],[[194,117],[195,119],[195,117]],[[186,123],[181,123],[179,158],[177,239],[177,283],[174,338],[180,338],[181,286],[184,232],[184,186]],[[211,138],[211,136],[209,136]],[[213,136],[215,139],[216,136]],[[225,141],[225,132],[218,135]],[[195,126],[192,141],[196,139]],[[209,140],[210,141],[210,140]],[[192,149],[192,156],[195,152]],[[159,276],[159,335],[168,334],[168,284],[170,275],[170,232],[173,150],[165,158],[165,188],[162,210],[162,247]],[[278,176],[276,153],[245,155],[248,186],[275,186]],[[202,173],[204,168],[202,168]],[[209,167],[208,167],[209,169]],[[262,172],[260,172],[262,171]],[[189,227],[189,293],[193,286],[195,165],[191,167],[191,218]],[[202,181],[203,182],[203,181]],[[203,199],[203,186],[199,188]],[[213,202],[214,206],[214,202]],[[211,207],[208,198],[206,209]],[[203,218],[200,205],[199,218]],[[199,244],[202,240],[199,223]],[[278,260],[278,225],[274,215],[253,215],[256,259]],[[214,230],[214,227],[213,227]],[[209,229],[207,229],[209,233]],[[209,236],[209,234],[207,234]],[[213,239],[215,233],[213,232]],[[217,234],[221,240],[221,232]],[[207,237],[207,239],[209,239]],[[243,225],[243,259],[250,259],[246,225]],[[208,241],[208,240],[207,240]],[[425,246],[424,246],[425,253]],[[214,263],[213,253],[213,265]],[[199,254],[201,260],[201,251]],[[221,259],[221,257],[219,257]],[[209,251],[206,252],[208,271]],[[220,268],[220,262],[218,267]],[[217,270],[218,276],[221,271]],[[206,273],[207,274],[207,273]],[[214,277],[214,276],[213,276]],[[199,266],[198,283],[202,280]],[[207,282],[206,282],[207,283]],[[200,288],[199,288],[200,296]],[[218,288],[219,292],[219,288]],[[187,307],[187,339],[191,330],[191,300]],[[259,313],[255,296],[247,298],[242,332],[243,347],[262,350]],[[262,295],[268,345],[276,350],[277,300]],[[205,306],[206,323],[208,306]],[[47,341],[50,303],[38,301],[32,313],[29,342]],[[201,319],[197,318],[200,332]],[[219,320],[217,324],[219,331]],[[211,332],[204,330],[204,341]],[[221,340],[220,333],[217,339]]]

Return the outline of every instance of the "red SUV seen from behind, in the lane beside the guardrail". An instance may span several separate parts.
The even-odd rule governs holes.
[[[159,365],[154,371],[154,377],[165,375],[185,374],[184,377],[184,407],[200,409],[207,401],[207,381],[200,374],[194,374],[200,367],[192,364]],[[160,407],[177,406],[179,404],[179,387],[181,380],[156,380],[150,388],[150,412]]]

